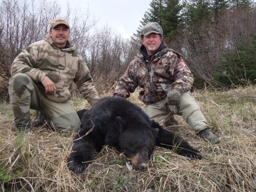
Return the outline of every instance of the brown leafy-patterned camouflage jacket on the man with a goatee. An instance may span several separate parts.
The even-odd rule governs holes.
[[[140,86],[143,90],[139,99],[144,103],[153,103],[165,98],[172,88],[189,91],[193,81],[193,75],[183,59],[164,48],[150,61],[144,61],[142,54],[135,56],[120,78],[113,96],[130,97],[130,93]]]

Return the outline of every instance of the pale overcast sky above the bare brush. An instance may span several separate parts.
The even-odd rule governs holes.
[[[71,8],[79,6],[81,10],[89,11],[94,14],[95,19],[99,20],[97,27],[101,28],[108,24],[111,28],[120,32],[123,37],[128,38],[136,32],[141,18],[145,11],[150,7],[151,0],[68,0]],[[65,1],[57,1],[61,4],[62,10],[66,10]]]

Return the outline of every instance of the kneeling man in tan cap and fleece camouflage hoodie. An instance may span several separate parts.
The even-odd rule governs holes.
[[[68,38],[68,22],[55,19],[44,40],[25,48],[13,61],[9,95],[19,130],[29,130],[29,109],[35,109],[51,119],[56,131],[78,131],[80,119],[69,101],[73,82],[90,105],[99,100],[89,69]]]

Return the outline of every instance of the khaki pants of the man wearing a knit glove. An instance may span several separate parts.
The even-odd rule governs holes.
[[[152,104],[147,104],[143,111],[151,120],[165,123],[172,115],[181,115],[183,119],[194,129],[195,134],[209,127],[198,104],[189,92],[184,92],[179,106],[167,104],[167,97]]]

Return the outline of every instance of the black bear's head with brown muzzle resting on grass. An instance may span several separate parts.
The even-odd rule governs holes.
[[[132,166],[135,169],[147,168],[159,129],[153,129],[147,122],[125,122],[121,117],[116,117],[115,124],[119,132],[119,147],[131,159]]]

